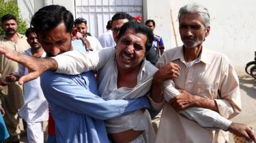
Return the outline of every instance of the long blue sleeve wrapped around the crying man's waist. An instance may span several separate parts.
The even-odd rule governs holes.
[[[71,76],[62,76],[52,72],[44,73],[41,78],[41,86],[49,103],[100,120],[122,116],[141,108],[150,107],[147,97],[105,101],[98,95],[91,93],[85,86],[72,80]]]

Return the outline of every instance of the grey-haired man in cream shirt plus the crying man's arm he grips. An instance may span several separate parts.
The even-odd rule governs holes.
[[[188,4],[180,8],[178,19],[183,46],[162,54],[156,63],[160,69],[154,74],[152,84],[152,99],[163,106],[156,142],[229,142],[225,131],[238,133],[242,130],[238,133],[240,136],[255,141],[250,127],[227,121],[241,111],[238,76],[225,55],[203,46],[210,33],[208,10],[202,5]],[[169,67],[173,65],[179,69],[177,78],[169,74],[173,70]],[[175,97],[167,93],[168,86],[165,86],[172,79],[181,93]],[[179,112],[189,113],[193,117],[190,119],[196,118],[197,123]],[[210,129],[209,121],[207,126],[200,124],[206,116],[212,116],[212,127],[220,130]],[[218,126],[220,121],[224,121],[222,126]]]

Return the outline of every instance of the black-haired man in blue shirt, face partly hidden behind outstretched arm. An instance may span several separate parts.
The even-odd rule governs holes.
[[[48,57],[72,48],[73,21],[72,14],[59,5],[35,13],[31,25]],[[98,96],[93,72],[75,76],[45,72],[41,85],[61,143],[109,142],[103,120],[149,106],[146,98],[104,101]]]

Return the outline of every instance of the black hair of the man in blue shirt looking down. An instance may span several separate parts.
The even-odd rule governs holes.
[[[66,32],[72,33],[74,18],[66,7],[61,5],[48,5],[35,12],[31,19],[31,27],[35,33],[44,33],[57,27],[61,22],[66,26]]]

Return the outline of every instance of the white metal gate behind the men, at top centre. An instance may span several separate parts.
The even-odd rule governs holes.
[[[76,18],[87,20],[88,32],[98,37],[116,12],[142,16],[142,0],[75,0]]]

